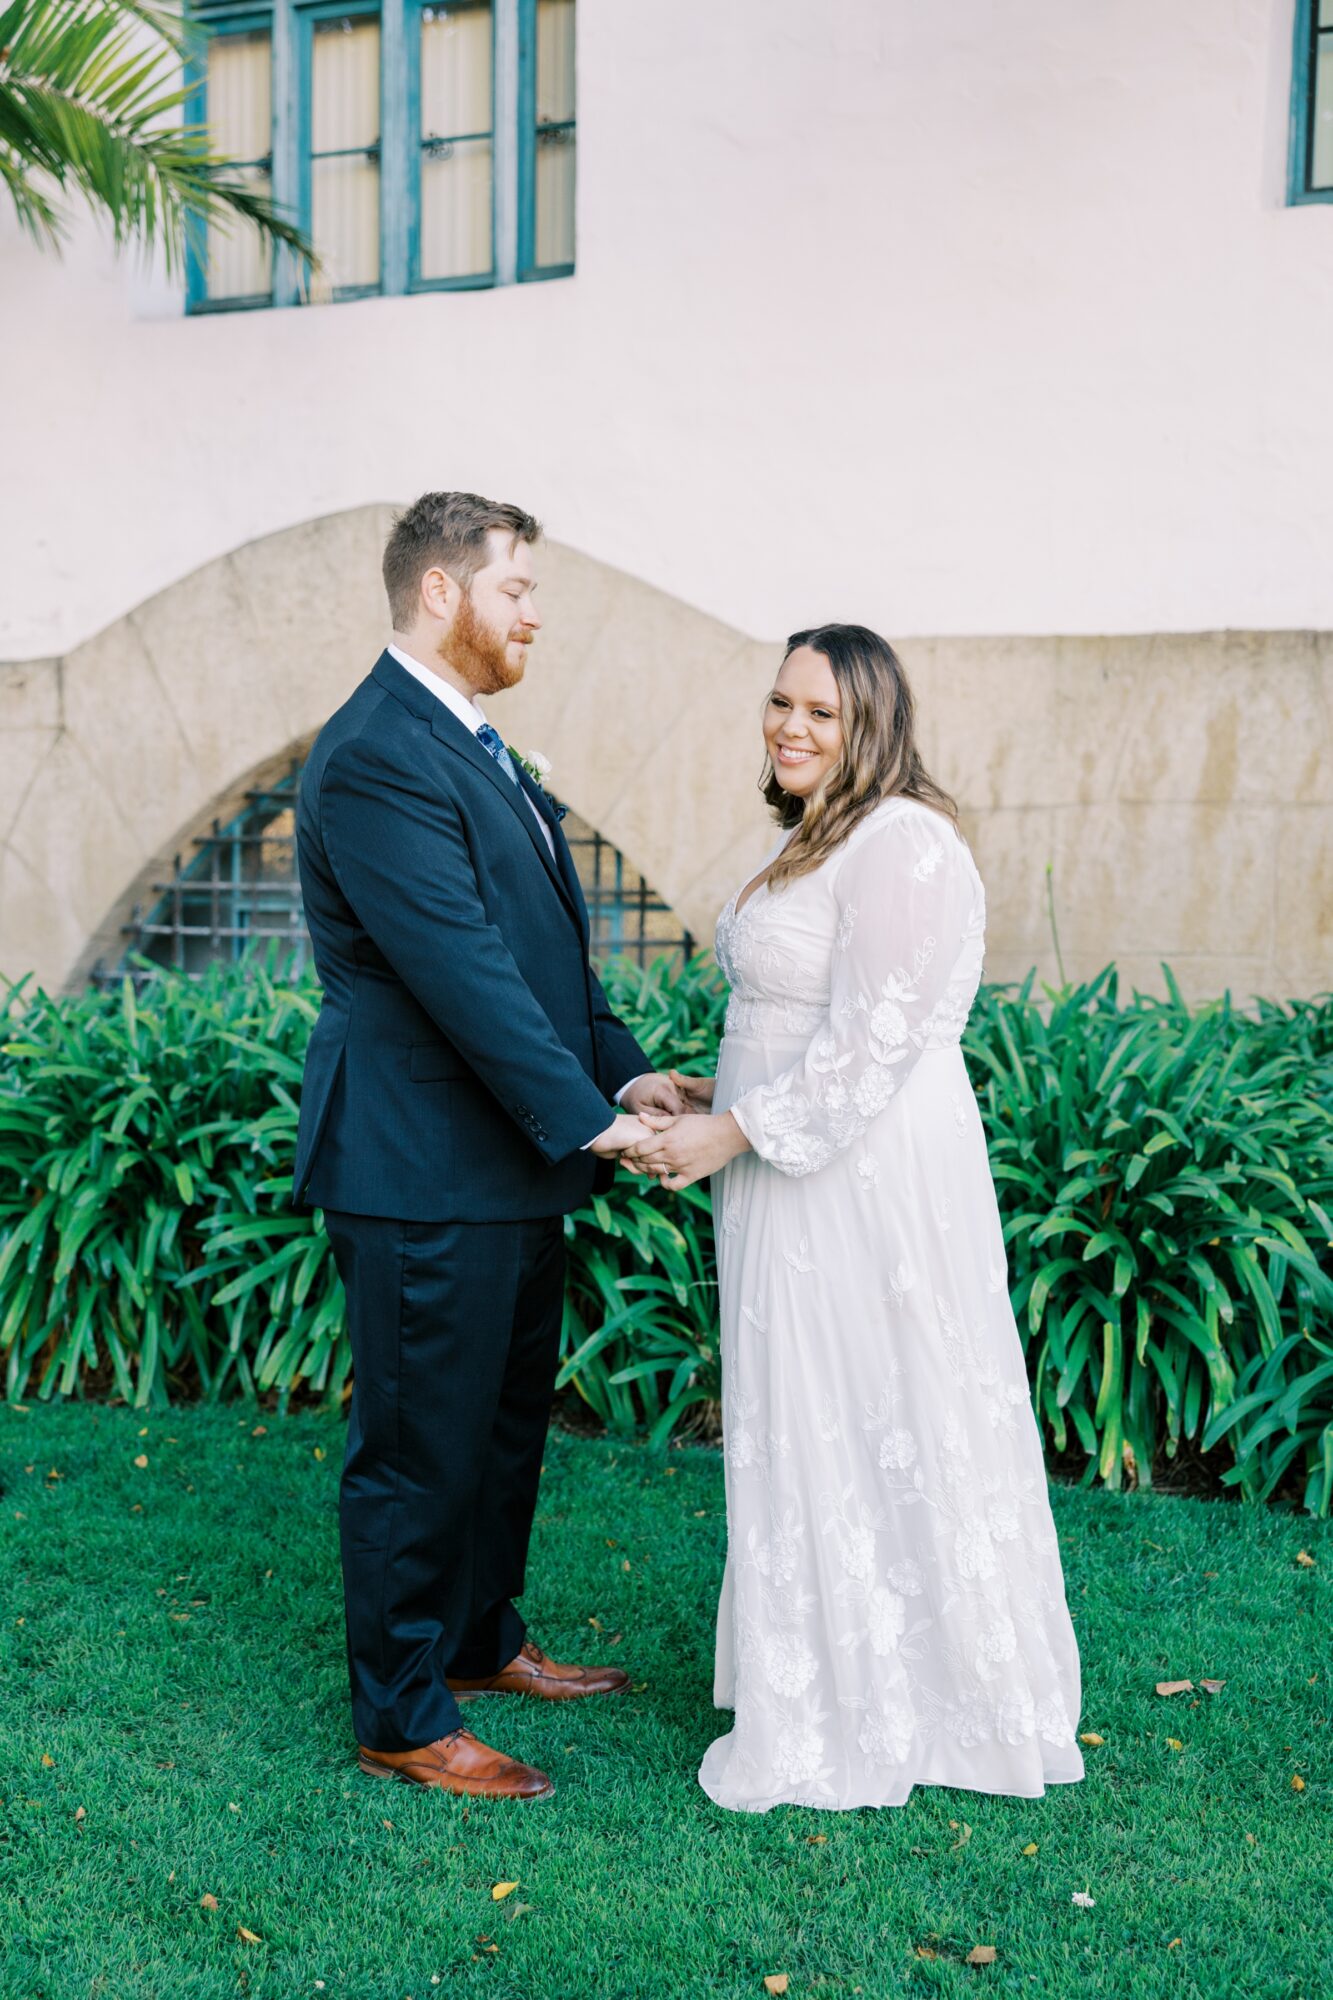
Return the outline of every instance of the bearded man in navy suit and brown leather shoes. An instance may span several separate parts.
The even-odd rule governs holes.
[[[458,1694],[626,1686],[548,1660],[512,1600],[562,1218],[650,1138],[636,1112],[683,1108],[588,964],[550,800],[476,706],[522,680],[538,536],[476,494],[402,514],[384,550],[394,640],[320,730],[296,814],[324,996],[294,1194],[324,1210],[352,1340],[340,1540],[360,1768],[490,1798],[552,1786],[464,1730]]]

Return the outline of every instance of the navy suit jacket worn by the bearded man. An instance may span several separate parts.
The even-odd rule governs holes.
[[[296,806],[324,986],[298,1202],[518,1222],[564,1214],[612,1178],[580,1148],[652,1064],[588,964],[554,810],[520,784],[526,796],[390,654],[320,730]]]

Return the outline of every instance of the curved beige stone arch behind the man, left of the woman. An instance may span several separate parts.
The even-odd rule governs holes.
[[[0,726],[0,758],[30,768],[0,856],[0,970],[78,986],[114,966],[176,858],[304,758],[388,636],[388,526],[368,506],[266,536],[68,658],[8,670],[24,728]],[[725,744],[753,744],[775,648],[558,544],[540,582],[534,664],[496,720],[550,760],[550,788],[671,928],[707,938],[731,868],[765,840],[759,754],[743,782]],[[662,764],[677,732],[687,754]]]

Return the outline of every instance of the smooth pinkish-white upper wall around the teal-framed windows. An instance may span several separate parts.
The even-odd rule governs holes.
[[[424,486],[765,638],[1333,626],[1291,0],[580,0],[578,38],[568,282],[184,320],[0,220],[0,660]]]

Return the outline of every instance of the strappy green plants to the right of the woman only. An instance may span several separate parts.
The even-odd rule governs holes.
[[[1167,974],[1169,978],[1169,974]],[[1117,1004],[1115,972],[967,1030],[1039,1418],[1141,1482],[1183,1438],[1333,1500],[1333,1004]]]

